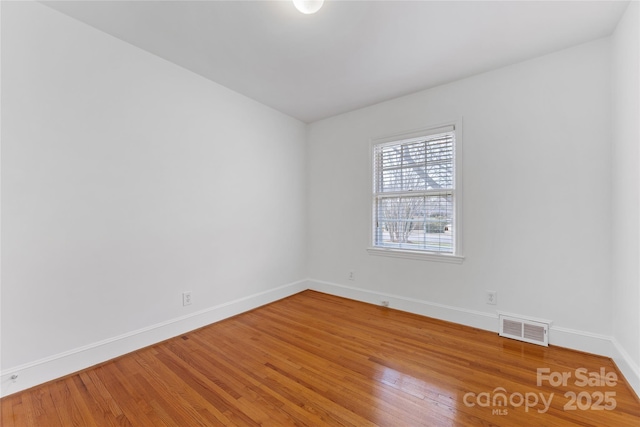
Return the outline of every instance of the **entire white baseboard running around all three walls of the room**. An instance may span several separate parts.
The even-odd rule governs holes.
[[[135,350],[179,336],[262,305],[286,298],[306,289],[371,304],[389,301],[391,307],[409,313],[446,320],[498,333],[498,315],[408,298],[384,292],[344,286],[318,280],[301,280],[219,304],[196,313],[168,320],[65,353],[4,370],[0,373],[0,396],[17,393],[38,384],[69,375]],[[549,343],[574,350],[610,357],[627,383],[640,396],[640,368],[613,337],[552,326]],[[17,375],[14,381],[11,379]]]

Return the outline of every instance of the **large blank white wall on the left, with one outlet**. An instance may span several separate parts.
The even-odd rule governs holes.
[[[2,2],[2,124],[5,392],[303,288],[302,122],[46,6]],[[87,356],[118,338],[131,342]]]

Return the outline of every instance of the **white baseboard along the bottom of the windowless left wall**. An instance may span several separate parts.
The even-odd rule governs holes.
[[[286,298],[307,288],[307,282],[301,280],[4,370],[0,373],[0,396],[7,396],[64,377],[123,354]],[[15,380],[11,378],[14,375],[17,375]]]

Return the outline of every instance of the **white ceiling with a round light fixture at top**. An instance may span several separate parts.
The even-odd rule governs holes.
[[[611,34],[627,1],[47,1],[305,122]]]

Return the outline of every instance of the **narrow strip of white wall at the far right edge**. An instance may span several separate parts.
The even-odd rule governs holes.
[[[619,366],[640,390],[640,7],[631,2],[612,36],[613,331]]]

